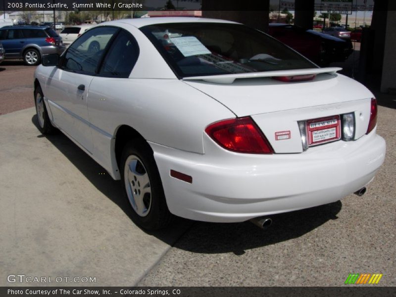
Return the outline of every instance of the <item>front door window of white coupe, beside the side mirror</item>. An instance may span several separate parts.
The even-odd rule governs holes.
[[[104,49],[118,30],[113,27],[98,27],[81,35],[67,49],[62,60],[62,68],[95,75]]]

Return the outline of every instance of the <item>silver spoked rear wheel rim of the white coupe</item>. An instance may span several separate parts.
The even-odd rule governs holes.
[[[124,182],[127,196],[135,212],[145,217],[151,208],[151,186],[146,167],[136,155],[125,162]]]

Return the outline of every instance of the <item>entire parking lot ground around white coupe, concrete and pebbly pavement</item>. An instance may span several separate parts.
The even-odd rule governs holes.
[[[0,64],[0,286],[343,286],[349,273],[396,286],[396,96],[376,93],[387,155],[364,196],[274,215],[266,231],[177,219],[147,233],[120,182],[62,134],[41,135],[34,69]],[[9,283],[10,274],[96,282]]]

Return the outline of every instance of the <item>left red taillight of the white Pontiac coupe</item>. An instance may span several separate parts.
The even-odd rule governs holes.
[[[243,153],[273,153],[264,134],[250,117],[213,123],[205,132],[221,147]]]

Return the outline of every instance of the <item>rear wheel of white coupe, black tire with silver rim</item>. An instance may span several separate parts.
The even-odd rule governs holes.
[[[127,143],[120,168],[125,196],[132,206],[132,220],[147,230],[168,226],[172,214],[166,205],[161,178],[148,143],[139,139]]]

